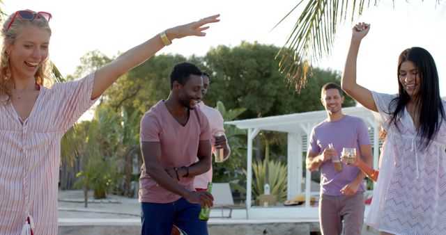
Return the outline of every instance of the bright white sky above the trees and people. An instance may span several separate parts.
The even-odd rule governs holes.
[[[63,75],[72,74],[79,58],[98,49],[114,56],[144,42],[156,33],[208,15],[221,14],[221,22],[211,26],[204,38],[174,40],[159,53],[203,56],[219,44],[237,46],[242,40],[281,47],[298,16],[270,31],[298,1],[199,0],[199,1],[114,1],[114,0],[3,0],[5,13],[29,8],[52,13],[53,35],[50,57]],[[373,1],[372,1],[373,2]],[[396,66],[401,51],[424,47],[431,52],[440,72],[440,92],[446,95],[446,4],[435,0],[410,3],[378,1],[378,7],[364,10],[354,22],[368,22],[371,30],[362,42],[358,57],[357,82],[370,90],[397,92]],[[339,26],[332,55],[321,67],[342,70],[353,24]]]

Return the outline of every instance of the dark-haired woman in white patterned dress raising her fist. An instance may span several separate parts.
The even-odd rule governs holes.
[[[387,132],[383,162],[366,223],[380,234],[445,234],[446,124],[436,64],[420,47],[404,50],[397,95],[356,83],[356,61],[369,24],[353,27],[342,88],[376,112]]]

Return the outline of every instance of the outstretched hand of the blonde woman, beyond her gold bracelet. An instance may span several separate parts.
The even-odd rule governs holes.
[[[173,40],[175,38],[184,38],[187,36],[203,37],[204,35],[206,35],[206,33],[203,31],[209,29],[208,24],[220,22],[220,19],[218,19],[218,17],[220,17],[220,14],[211,15],[210,17],[200,19],[196,22],[190,22],[189,24],[183,24],[171,29],[167,29],[167,38],[169,38],[169,40]]]

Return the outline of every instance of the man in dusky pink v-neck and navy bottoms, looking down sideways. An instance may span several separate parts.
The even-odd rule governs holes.
[[[189,235],[207,235],[199,212],[201,206],[213,205],[213,197],[194,191],[193,185],[194,176],[208,171],[212,162],[208,118],[196,108],[202,97],[201,70],[179,63],[170,79],[169,98],[141,119],[141,234],[170,235],[175,225]]]

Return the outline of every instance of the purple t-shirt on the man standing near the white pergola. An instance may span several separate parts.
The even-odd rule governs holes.
[[[309,140],[309,153],[321,154],[328,144],[333,143],[334,149],[341,155],[343,147],[355,147],[361,154],[361,145],[370,145],[369,132],[362,119],[344,115],[341,120],[330,122],[325,120],[314,127]],[[341,188],[355,179],[359,169],[353,165],[341,163],[342,171],[334,170],[332,161],[321,165],[321,194],[342,195]],[[361,184],[358,191],[363,192]]]

